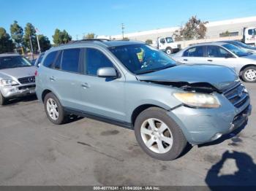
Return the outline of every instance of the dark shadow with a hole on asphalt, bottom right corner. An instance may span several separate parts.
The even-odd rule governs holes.
[[[235,160],[238,171],[233,174],[222,173],[222,168],[230,159]],[[211,190],[230,190],[230,187],[223,186],[231,186],[232,190],[251,190],[252,186],[256,186],[256,164],[245,152],[226,151],[222,159],[208,170],[205,181]]]

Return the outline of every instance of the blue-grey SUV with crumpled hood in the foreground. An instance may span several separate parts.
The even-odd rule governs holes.
[[[37,71],[48,119],[76,114],[135,130],[151,157],[174,160],[187,145],[246,124],[249,93],[233,69],[178,65],[141,42],[91,39],[53,47]]]

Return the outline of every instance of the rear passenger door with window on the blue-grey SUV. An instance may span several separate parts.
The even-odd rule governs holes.
[[[80,107],[80,71],[80,48],[59,51],[52,69],[48,71],[48,83],[65,107]]]

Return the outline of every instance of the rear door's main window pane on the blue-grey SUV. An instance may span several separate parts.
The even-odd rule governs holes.
[[[62,52],[61,69],[78,73],[80,48],[66,49]]]

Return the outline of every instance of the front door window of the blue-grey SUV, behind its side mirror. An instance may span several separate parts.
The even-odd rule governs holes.
[[[113,63],[105,54],[94,48],[86,49],[86,74],[97,76],[98,69],[113,67]]]

